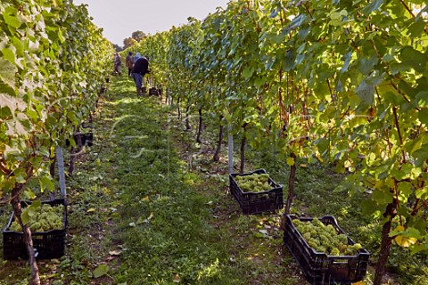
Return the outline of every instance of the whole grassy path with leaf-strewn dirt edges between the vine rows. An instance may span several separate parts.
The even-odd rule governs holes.
[[[226,163],[130,79],[112,81],[68,180],[67,254],[39,262],[42,283],[304,284],[279,216],[243,216]],[[0,284],[28,276],[26,261],[4,261]]]

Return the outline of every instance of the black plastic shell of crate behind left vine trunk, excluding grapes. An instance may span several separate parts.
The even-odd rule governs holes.
[[[30,205],[29,201],[21,201],[21,207]],[[64,205],[64,220],[61,230],[52,230],[48,232],[31,232],[33,247],[37,259],[60,258],[64,255],[65,232],[67,227],[67,204],[65,199],[53,199],[52,201],[43,201],[42,204],[51,206]],[[23,241],[22,232],[8,231],[13,222],[12,213],[9,223],[3,231],[3,257],[5,260],[28,259],[29,255]]]

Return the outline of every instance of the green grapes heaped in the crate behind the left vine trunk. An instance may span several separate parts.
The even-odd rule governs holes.
[[[61,230],[63,225],[64,205],[52,207],[49,204],[42,204],[38,211],[29,216],[29,229],[31,232],[47,232],[51,230]],[[22,232],[21,225],[16,221],[9,227],[10,231]]]

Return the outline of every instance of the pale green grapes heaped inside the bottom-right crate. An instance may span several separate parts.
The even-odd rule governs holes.
[[[309,247],[317,252],[324,252],[330,256],[355,256],[363,248],[359,243],[350,245],[346,234],[339,234],[332,224],[325,225],[317,218],[311,222],[292,220],[292,224],[306,240]]]

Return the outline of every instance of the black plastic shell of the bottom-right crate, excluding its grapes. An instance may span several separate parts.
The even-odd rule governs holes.
[[[370,257],[370,252],[366,248],[361,248],[356,256],[328,256],[325,253],[317,252],[309,247],[292,224],[292,220],[297,218],[295,215],[285,216],[284,244],[299,262],[309,283],[314,285],[351,284],[363,280]],[[312,217],[299,219],[302,222],[313,220]],[[332,224],[337,232],[347,235],[333,216],[323,216],[319,220],[325,225]],[[349,236],[348,243],[355,244]]]

